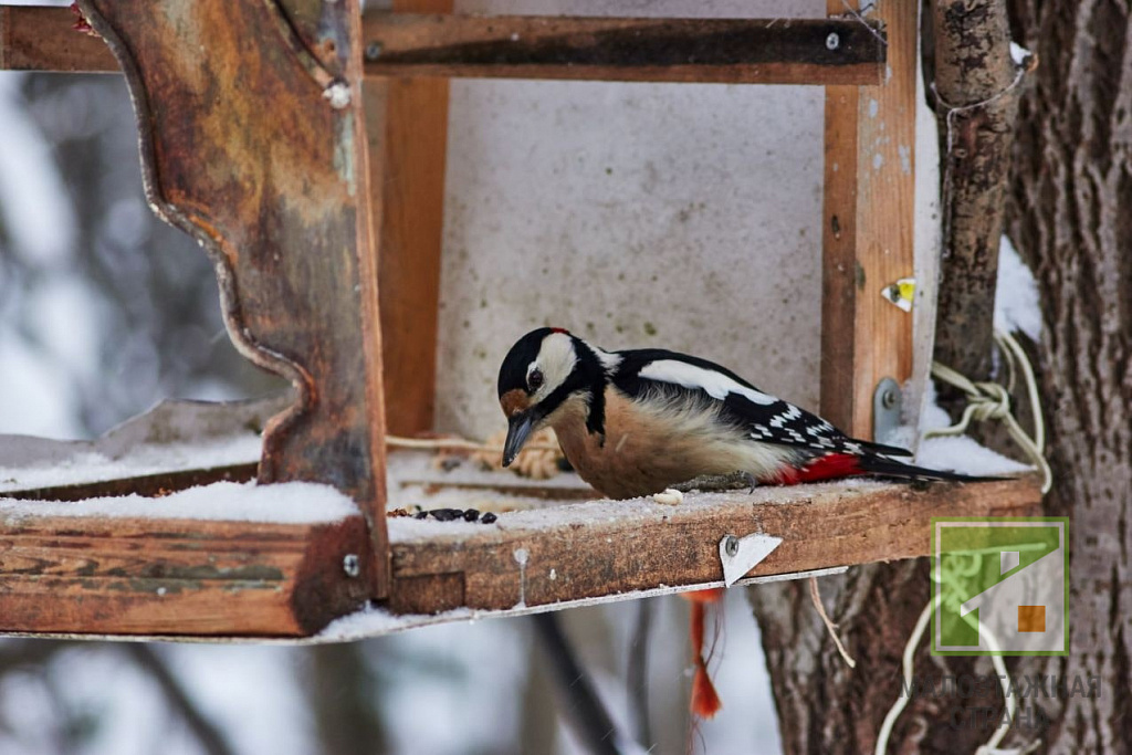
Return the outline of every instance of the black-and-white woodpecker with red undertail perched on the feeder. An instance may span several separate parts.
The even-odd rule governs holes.
[[[499,404],[508,422],[505,466],[549,426],[582,479],[609,498],[736,472],[769,484],[976,479],[897,461],[911,453],[850,438],[705,359],[603,351],[563,328],[532,331],[512,346],[499,369]]]

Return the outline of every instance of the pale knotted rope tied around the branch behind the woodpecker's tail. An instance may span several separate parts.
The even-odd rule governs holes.
[[[1030,463],[1041,472],[1041,492],[1049,492],[1049,489],[1053,487],[1054,475],[1045,457],[1046,428],[1041,415],[1041,400],[1038,395],[1038,381],[1034,377],[1034,368],[1022,346],[1014,340],[1014,336],[1002,331],[995,331],[994,340],[1010,367],[1011,381],[1013,381],[1015,363],[1021,369],[1022,377],[1026,380],[1030,410],[1034,414],[1034,437],[1031,438],[1022,429],[1022,426],[1018,423],[1018,420],[1011,413],[1010,392],[1004,386],[989,380],[972,381],[967,376],[957,372],[941,362],[932,362],[932,377],[962,391],[967,395],[967,407],[963,410],[959,422],[951,427],[928,430],[924,434],[924,437],[959,436],[967,432],[971,420],[979,422],[998,420],[1006,426],[1010,437],[1021,448],[1022,453],[1026,454]]]

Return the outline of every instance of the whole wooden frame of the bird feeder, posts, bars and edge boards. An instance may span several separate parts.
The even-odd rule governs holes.
[[[266,422],[258,465],[20,497],[255,475],[328,483],[361,513],[0,518],[0,630],[303,637],[367,601],[538,609],[715,584],[726,534],[782,537],[751,576],[794,575],[924,556],[934,516],[1036,512],[1032,479],[801,486],[387,538],[386,428],[432,423],[447,79],[824,86],[822,412],[871,437],[874,389],[912,367],[911,317],[878,282],[912,275],[915,168],[899,149],[916,143],[917,3],[882,0],[868,20],[841,16],[841,0],[807,20],[474,18],[446,15],[451,0],[365,16],[354,0],[79,5],[102,38],[72,31],[65,8],[0,7],[0,69],[125,72],[151,203],[217,261],[237,346],[297,396]]]

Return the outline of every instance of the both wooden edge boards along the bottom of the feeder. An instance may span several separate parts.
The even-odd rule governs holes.
[[[471,505],[483,490],[461,495]],[[461,608],[566,608],[718,586],[719,543],[729,534],[783,540],[748,576],[920,557],[932,517],[1032,515],[1039,499],[1032,479],[923,490],[841,482],[693,494],[677,506],[547,501],[487,525],[391,517],[392,592],[379,606],[415,615],[404,628]],[[136,511],[136,497],[121,500]],[[360,514],[285,523],[234,511],[216,521],[163,515],[162,500],[149,515],[113,515],[105,501],[110,509],[94,515],[0,501],[0,632],[298,640],[361,610],[371,594]]]

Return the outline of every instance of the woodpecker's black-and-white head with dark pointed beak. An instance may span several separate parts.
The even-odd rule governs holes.
[[[606,367],[598,354],[569,332],[549,327],[511,348],[499,368],[499,405],[507,417],[504,466],[531,435],[575,413],[591,432],[603,432]]]

